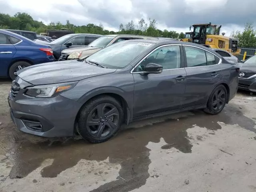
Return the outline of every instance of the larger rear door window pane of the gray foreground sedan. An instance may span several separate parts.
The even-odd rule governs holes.
[[[199,48],[184,46],[187,59],[187,67],[206,66],[205,51]]]

